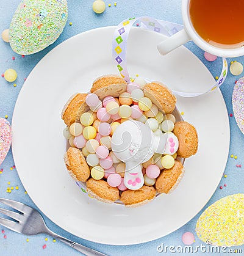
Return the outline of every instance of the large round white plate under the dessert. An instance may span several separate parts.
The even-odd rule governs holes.
[[[74,235],[104,244],[136,244],[178,229],[207,203],[223,174],[229,150],[229,122],[220,90],[178,98],[184,119],[196,126],[198,153],[186,159],[185,175],[170,195],[138,208],[109,205],[81,192],[63,163],[65,127],[60,112],[74,92],[87,92],[98,76],[118,73],[111,56],[115,27],[87,31],[50,51],[32,70],[13,113],[13,157],[29,196],[53,222]],[[206,90],[214,79],[181,47],[162,57],[163,36],[132,29],[127,62],[131,76],[165,82],[172,89]],[[54,196],[55,194],[55,196]]]

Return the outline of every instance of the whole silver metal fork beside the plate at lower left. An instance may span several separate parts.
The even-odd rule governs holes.
[[[3,213],[6,216],[9,216],[10,218],[15,220],[11,221],[10,219],[0,217],[0,224],[10,230],[21,233],[23,235],[38,235],[41,233],[45,233],[46,235],[52,236],[53,238],[56,238],[57,240],[68,244],[68,246],[76,249],[79,252],[82,252],[82,254],[85,254],[87,256],[107,256],[106,254],[102,254],[101,252],[95,251],[89,247],[83,246],[82,244],[78,244],[74,241],[68,240],[63,236],[57,235],[56,233],[52,232],[46,226],[41,214],[34,208],[29,207],[28,205],[24,205],[24,203],[3,198],[0,198],[0,203],[4,203],[5,205],[8,205],[9,207],[12,207],[20,212],[16,213],[15,211],[0,208],[0,213]]]

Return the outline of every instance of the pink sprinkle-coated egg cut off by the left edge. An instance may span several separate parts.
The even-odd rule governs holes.
[[[0,165],[4,161],[12,142],[12,128],[10,123],[0,118]]]

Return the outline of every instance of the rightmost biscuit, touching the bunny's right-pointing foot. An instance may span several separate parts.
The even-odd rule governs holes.
[[[173,133],[179,140],[177,155],[181,158],[188,158],[198,150],[198,133],[190,123],[181,121],[174,124]]]

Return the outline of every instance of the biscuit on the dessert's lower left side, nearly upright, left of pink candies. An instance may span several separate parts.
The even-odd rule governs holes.
[[[66,168],[76,181],[85,182],[90,177],[90,168],[78,148],[70,147],[64,156]]]

